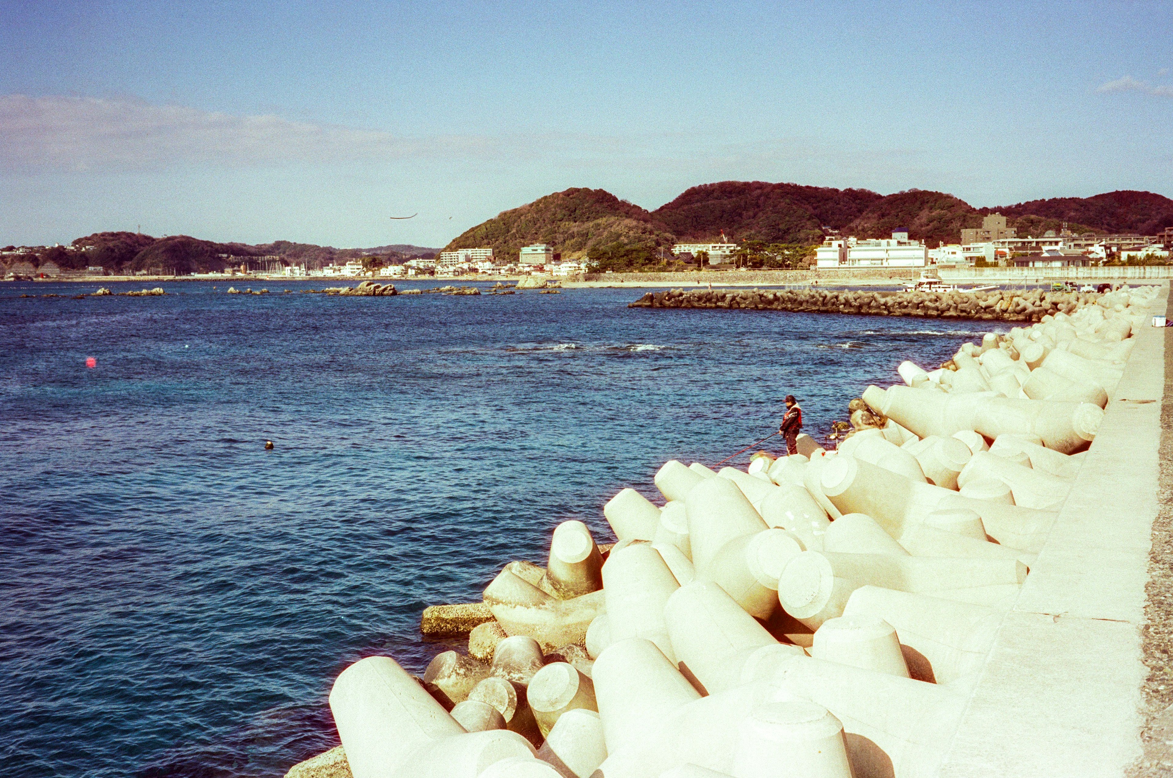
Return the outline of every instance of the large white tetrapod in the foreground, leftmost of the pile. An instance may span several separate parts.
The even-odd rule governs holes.
[[[436,750],[440,743],[452,743],[450,751],[472,756],[482,769],[510,756],[533,755],[529,744],[510,732],[466,735],[415,678],[386,656],[367,657],[343,670],[330,691],[330,709],[355,778],[412,774],[416,751]],[[407,772],[401,771],[405,767]]]

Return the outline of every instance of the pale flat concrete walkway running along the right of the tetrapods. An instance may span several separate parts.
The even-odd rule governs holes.
[[[1139,329],[1079,478],[1002,623],[942,776],[1107,778],[1138,769],[1148,710],[1141,630],[1162,408],[1169,407],[1162,398],[1173,374],[1165,370],[1173,354],[1167,333]]]

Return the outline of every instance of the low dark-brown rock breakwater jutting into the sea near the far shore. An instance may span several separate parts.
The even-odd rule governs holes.
[[[873,292],[801,289],[762,291],[671,289],[647,292],[628,307],[744,309],[802,313],[923,316],[943,319],[1040,322],[1093,303],[1094,292],[998,290],[991,292]]]

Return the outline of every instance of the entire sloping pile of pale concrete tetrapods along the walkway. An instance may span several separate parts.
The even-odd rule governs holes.
[[[422,678],[386,656],[346,668],[330,694],[341,750],[291,774],[940,774],[1099,455],[1155,293],[989,333],[948,367],[906,361],[902,385],[852,400],[835,451],[802,438],[801,454],[746,469],[667,461],[655,501],[624,488],[603,508],[612,547],[562,522],[544,566],[509,562],[447,625],[433,610],[433,629],[468,630],[467,654],[438,655]],[[1016,665],[1047,662],[1017,650]]]

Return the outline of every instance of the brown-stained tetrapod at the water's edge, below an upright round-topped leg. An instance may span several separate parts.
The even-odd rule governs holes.
[[[484,589],[484,602],[497,623],[509,635],[533,637],[547,651],[582,643],[586,627],[603,613],[603,591],[556,600],[515,574],[511,564]]]

